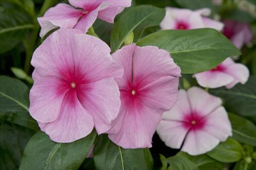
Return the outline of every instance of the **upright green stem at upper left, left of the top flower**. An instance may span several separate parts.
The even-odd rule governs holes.
[[[39,11],[37,17],[43,16],[43,14],[51,7],[53,6],[57,0],[44,0],[43,6],[41,10]],[[37,38],[38,38],[38,32],[39,32],[39,24],[37,22],[37,18],[34,19],[34,29],[31,31],[31,35],[29,37],[29,40],[26,45],[26,59],[25,59],[25,65],[24,65],[24,70],[27,74],[29,74],[30,71],[30,61],[31,57],[33,55],[33,52],[35,50],[36,44],[37,44]]]

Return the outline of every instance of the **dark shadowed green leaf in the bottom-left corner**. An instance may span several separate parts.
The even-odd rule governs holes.
[[[25,146],[34,133],[22,126],[0,122],[1,169],[18,169]]]

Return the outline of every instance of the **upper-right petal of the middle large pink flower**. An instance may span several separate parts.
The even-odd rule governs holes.
[[[140,86],[146,86],[159,77],[180,77],[180,72],[180,67],[173,62],[166,50],[155,46],[135,47],[133,53],[134,84],[140,83]]]

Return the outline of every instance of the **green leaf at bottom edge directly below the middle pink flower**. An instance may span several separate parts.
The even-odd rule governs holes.
[[[94,144],[93,159],[97,169],[152,169],[153,158],[146,149],[123,149],[100,135]]]

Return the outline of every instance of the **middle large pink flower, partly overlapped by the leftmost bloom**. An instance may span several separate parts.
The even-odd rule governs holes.
[[[108,137],[123,148],[151,147],[163,112],[177,99],[180,67],[168,52],[154,46],[128,45],[112,56],[124,76],[115,79],[121,108]]]

